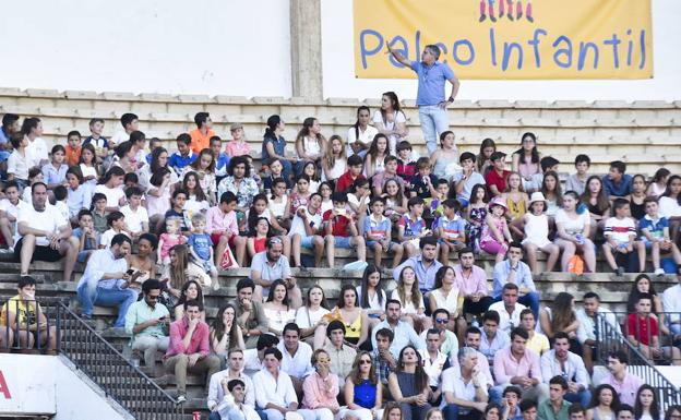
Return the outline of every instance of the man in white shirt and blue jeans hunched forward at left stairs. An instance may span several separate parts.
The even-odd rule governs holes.
[[[89,255],[85,272],[75,292],[81,303],[81,316],[92,319],[93,307],[118,307],[118,319],[113,326],[126,326],[128,308],[138,300],[138,292],[129,288],[132,279],[126,256],[130,254],[132,242],[126,233],[111,239],[111,247],[97,250]]]

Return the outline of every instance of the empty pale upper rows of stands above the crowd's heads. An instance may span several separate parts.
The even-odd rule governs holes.
[[[265,121],[273,113],[280,115],[287,123],[284,135],[292,152],[296,133],[307,117],[320,120],[326,137],[339,134],[346,139],[348,128],[356,120],[357,107],[368,105],[377,110],[380,98],[320,101],[298,97],[0,88],[0,113],[39,117],[48,144],[64,144],[71,130],[88,135],[87,123],[94,117],[105,119],[105,136],[110,136],[121,129],[120,116],[132,111],[140,117],[140,129],[147,139],[159,137],[170,149],[175,149],[172,141],[179,133],[195,128],[194,113],[208,111],[216,133],[223,139],[229,137],[229,124],[242,123],[253,155],[258,157]],[[408,140],[423,153],[414,100],[404,100],[403,107],[410,132]],[[450,118],[459,151],[477,153],[480,141],[491,137],[499,149],[511,153],[519,147],[521,134],[533,131],[538,136],[539,151],[558,158],[562,163],[561,171],[573,170],[577,153],[592,157],[594,172],[607,172],[608,163],[614,159],[626,161],[631,173],[653,175],[661,166],[672,172],[681,169],[681,152],[670,149],[679,144],[681,101],[457,100],[450,108]]]

